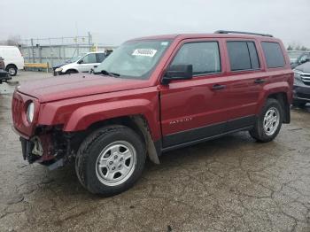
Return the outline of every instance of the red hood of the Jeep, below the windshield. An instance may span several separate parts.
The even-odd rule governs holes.
[[[149,81],[77,73],[39,81],[27,81],[18,87],[18,91],[44,103],[148,86],[150,86]]]

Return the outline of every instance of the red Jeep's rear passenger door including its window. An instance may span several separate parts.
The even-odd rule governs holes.
[[[267,81],[254,40],[227,39],[229,64],[228,130],[253,125],[260,92]]]

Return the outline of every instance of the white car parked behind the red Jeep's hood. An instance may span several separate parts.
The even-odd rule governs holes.
[[[72,58],[64,64],[53,66],[54,75],[71,73],[89,73],[89,71],[104,61],[107,57],[105,51],[95,51]]]

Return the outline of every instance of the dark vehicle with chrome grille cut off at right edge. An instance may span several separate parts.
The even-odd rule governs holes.
[[[304,107],[310,103],[310,62],[297,66],[294,70],[293,104]]]

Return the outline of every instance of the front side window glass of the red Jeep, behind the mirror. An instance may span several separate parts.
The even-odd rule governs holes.
[[[221,61],[217,42],[185,43],[177,52],[171,66],[192,65],[193,74],[220,73]]]

